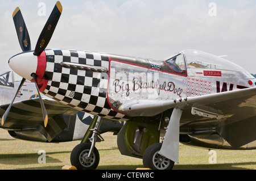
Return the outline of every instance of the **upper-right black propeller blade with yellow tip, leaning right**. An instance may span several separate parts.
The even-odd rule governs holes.
[[[44,26],[38,42],[36,43],[36,48],[34,55],[40,56],[44,49],[46,49],[49,41],[51,40],[52,34],[57,26],[57,22],[60,19],[60,15],[62,12],[62,5],[59,1],[57,1],[55,7],[52,10],[51,15],[49,16],[46,25]]]

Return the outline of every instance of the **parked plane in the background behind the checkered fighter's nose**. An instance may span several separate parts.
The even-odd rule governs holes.
[[[0,74],[0,115],[2,117],[16,93],[20,81],[15,81],[13,71]],[[40,142],[64,142],[82,140],[93,120],[93,115],[76,111],[69,106],[42,96],[49,115],[49,127],[44,128],[38,92],[33,82],[24,82],[16,95],[13,108],[4,125],[11,136],[22,140]],[[123,124],[104,121],[101,132],[114,132]],[[100,141],[100,139],[98,140]]]

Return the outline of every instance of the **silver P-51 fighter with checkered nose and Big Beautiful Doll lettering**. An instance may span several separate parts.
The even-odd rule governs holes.
[[[205,148],[256,148],[256,79],[240,66],[198,50],[156,61],[80,50],[46,49],[60,18],[56,3],[31,51],[20,13],[14,23],[23,49],[9,60],[17,74],[49,98],[92,113],[90,142],[77,145],[71,163],[95,169],[102,119],[126,121],[118,133],[122,154],[143,158],[145,167],[172,169],[179,142]],[[40,98],[41,99],[41,98]],[[10,104],[11,107],[11,104]],[[44,124],[47,112],[42,102]],[[8,110],[2,119],[2,124]],[[162,141],[160,141],[162,137]]]

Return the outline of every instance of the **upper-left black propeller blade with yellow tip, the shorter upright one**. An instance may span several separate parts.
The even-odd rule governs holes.
[[[13,21],[18,35],[20,47],[22,48],[23,52],[30,51],[30,36],[28,35],[27,27],[19,7],[16,7],[13,12]]]

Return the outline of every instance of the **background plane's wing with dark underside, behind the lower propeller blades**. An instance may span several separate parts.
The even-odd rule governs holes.
[[[20,102],[15,102],[11,107],[10,113],[3,124],[3,129],[22,130],[26,128],[36,128],[41,132],[48,141],[51,141],[55,136],[62,132],[66,127],[64,120],[59,115],[75,114],[71,107],[65,106],[55,100],[43,98],[43,102],[48,112],[48,125],[44,128],[42,121],[42,109],[40,100],[28,99]],[[0,106],[0,115],[2,116],[8,108],[9,104]]]

